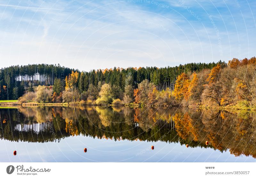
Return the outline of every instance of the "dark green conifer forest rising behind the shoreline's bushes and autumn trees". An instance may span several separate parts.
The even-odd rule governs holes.
[[[224,62],[218,62],[226,65]],[[124,87],[129,82],[133,88],[144,79],[152,81],[158,86],[158,89],[174,87],[173,84],[178,75],[182,72],[201,71],[211,69],[218,63],[188,63],[176,67],[140,67],[140,68],[116,68],[105,70],[92,70],[89,72],[61,67],[58,65],[48,64],[28,64],[24,66],[10,66],[0,70],[0,100],[17,100],[26,90],[32,90],[32,87],[38,85],[50,86],[54,84],[55,79],[60,79],[62,85],[65,84],[65,78],[72,71],[76,73],[76,85],[80,93],[87,91],[89,85],[98,87],[107,83],[111,86],[116,85],[124,91]],[[129,81],[128,81],[129,80]],[[64,86],[65,87],[65,86]]]

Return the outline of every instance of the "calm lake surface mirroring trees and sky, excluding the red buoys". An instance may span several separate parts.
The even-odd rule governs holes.
[[[0,161],[255,162],[255,116],[188,108],[0,108]]]

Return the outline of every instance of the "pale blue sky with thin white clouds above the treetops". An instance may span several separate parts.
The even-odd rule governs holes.
[[[252,0],[2,0],[0,67],[88,71],[250,58],[255,7]]]

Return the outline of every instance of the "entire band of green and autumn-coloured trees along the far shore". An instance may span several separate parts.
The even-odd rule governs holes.
[[[228,63],[188,63],[165,68],[115,67],[90,72],[60,65],[11,66],[1,69],[0,99],[19,98],[20,103],[240,104],[253,107],[256,97],[255,64],[256,58],[252,57],[243,60],[233,58]]]

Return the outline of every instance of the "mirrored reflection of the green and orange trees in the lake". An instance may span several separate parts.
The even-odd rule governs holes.
[[[185,108],[34,107],[0,109],[0,137],[60,142],[84,135],[99,139],[163,141],[229,150],[256,158],[255,114]],[[208,141],[208,145],[206,145]]]

